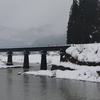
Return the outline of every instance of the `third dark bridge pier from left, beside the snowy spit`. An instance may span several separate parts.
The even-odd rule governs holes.
[[[47,70],[46,54],[47,54],[47,51],[41,51],[41,66],[40,66],[40,70]]]

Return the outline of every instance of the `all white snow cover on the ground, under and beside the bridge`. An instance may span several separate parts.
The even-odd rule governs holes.
[[[66,53],[71,54],[73,57],[77,57],[78,60],[90,61],[90,62],[100,62],[100,44],[84,44],[84,45],[73,45],[66,49]],[[23,64],[23,55],[13,55],[13,62],[18,62]],[[7,61],[7,56],[0,55],[0,68],[16,67],[16,66],[6,66],[4,62]],[[40,54],[29,55],[30,63],[41,63]],[[70,70],[37,70],[22,72],[22,74],[30,74],[35,76],[49,76],[60,79],[74,79],[81,81],[90,82],[100,82],[100,76],[97,71],[100,71],[100,65],[98,66],[86,66],[77,65],[71,62],[60,62],[60,56],[58,52],[49,52],[47,55],[47,63],[49,65],[64,66],[66,68],[74,69]],[[22,66],[22,65],[21,65]]]

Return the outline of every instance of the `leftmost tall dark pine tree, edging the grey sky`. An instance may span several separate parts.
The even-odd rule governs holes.
[[[73,0],[73,5],[71,6],[70,15],[68,22],[68,31],[67,31],[67,43],[73,44],[77,31],[77,20],[78,20],[78,3],[76,0]]]

